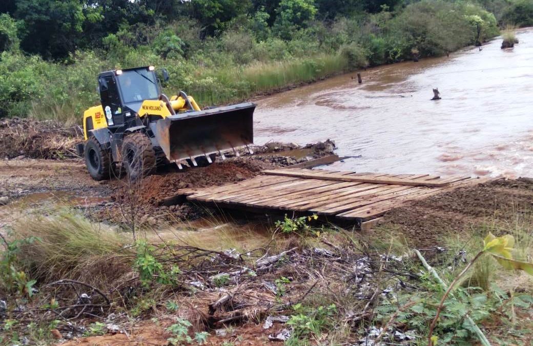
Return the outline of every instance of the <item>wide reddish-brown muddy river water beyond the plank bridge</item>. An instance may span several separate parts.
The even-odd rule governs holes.
[[[533,176],[533,28],[450,57],[326,79],[258,101],[255,142],[333,139],[342,170]],[[431,101],[432,88],[441,100]]]

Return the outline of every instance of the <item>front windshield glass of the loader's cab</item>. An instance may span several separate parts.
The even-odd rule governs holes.
[[[154,73],[148,69],[123,71],[117,76],[124,103],[157,99],[159,96]]]

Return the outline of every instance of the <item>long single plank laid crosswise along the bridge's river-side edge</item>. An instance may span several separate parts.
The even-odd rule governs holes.
[[[354,181],[366,182],[375,184],[392,184],[392,185],[408,185],[408,186],[426,186],[426,187],[443,187],[447,182],[426,181],[426,180],[408,180],[408,179],[394,179],[394,178],[370,178],[366,176],[347,176],[337,174],[306,174],[300,172],[290,172],[283,170],[266,170],[262,171],[265,174],[294,176],[296,178],[310,178],[310,179],[324,179],[324,180],[338,180],[338,181]]]

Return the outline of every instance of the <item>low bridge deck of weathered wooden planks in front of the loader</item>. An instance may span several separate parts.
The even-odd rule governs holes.
[[[302,168],[262,171],[255,178],[220,187],[181,190],[191,202],[282,213],[316,213],[364,222],[409,200],[484,180],[469,176],[354,173]]]

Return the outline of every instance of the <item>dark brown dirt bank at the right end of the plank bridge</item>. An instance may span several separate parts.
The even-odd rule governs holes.
[[[532,179],[496,180],[394,208],[385,214],[383,230],[394,229],[410,246],[434,247],[443,235],[480,229],[487,222],[512,222],[531,211]]]

